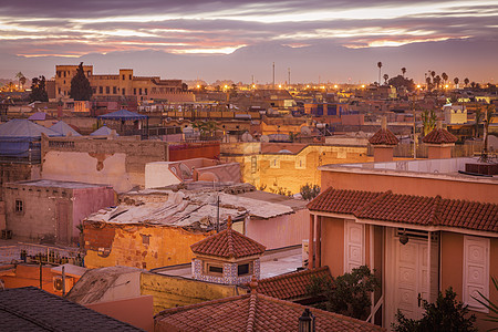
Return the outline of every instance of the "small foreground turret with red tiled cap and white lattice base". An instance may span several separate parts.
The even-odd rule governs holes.
[[[231,228],[190,246],[194,279],[225,284],[242,284],[259,279],[260,257],[266,247]]]

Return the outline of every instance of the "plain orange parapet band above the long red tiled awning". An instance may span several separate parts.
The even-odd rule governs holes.
[[[418,195],[466,199],[498,204],[498,188],[495,184],[463,183],[448,179],[419,178],[377,174],[354,174],[322,172],[322,190],[335,189],[372,190],[394,194]]]

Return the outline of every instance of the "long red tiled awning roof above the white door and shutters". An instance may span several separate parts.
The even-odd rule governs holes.
[[[308,208],[323,212],[350,214],[359,219],[498,232],[498,205],[444,199],[440,196],[329,188],[310,201]]]

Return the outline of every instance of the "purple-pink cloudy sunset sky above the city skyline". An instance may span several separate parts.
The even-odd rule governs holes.
[[[498,1],[0,0],[0,77],[133,66],[165,79],[498,79]],[[492,56],[490,53],[492,53]],[[496,83],[496,82],[495,82]]]

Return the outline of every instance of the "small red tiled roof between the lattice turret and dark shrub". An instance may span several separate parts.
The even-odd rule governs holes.
[[[259,280],[256,290],[258,293],[280,300],[294,300],[307,295],[311,277],[332,280],[329,267],[321,267]]]

